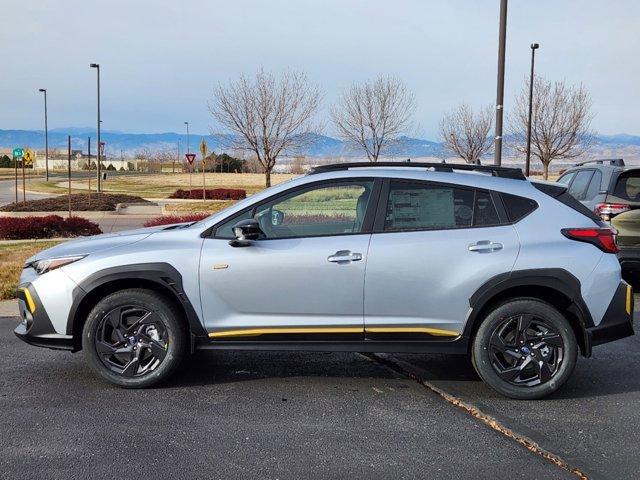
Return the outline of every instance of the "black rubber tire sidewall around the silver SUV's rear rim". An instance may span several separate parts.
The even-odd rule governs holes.
[[[491,364],[489,340],[494,329],[506,318],[532,314],[549,323],[562,337],[564,357],[560,370],[551,380],[533,387],[516,386],[502,380]],[[537,299],[521,299],[504,303],[493,310],[478,328],[472,346],[473,365],[478,375],[491,388],[510,398],[533,400],[558,390],[571,376],[578,356],[578,343],[569,322],[553,306]]]

